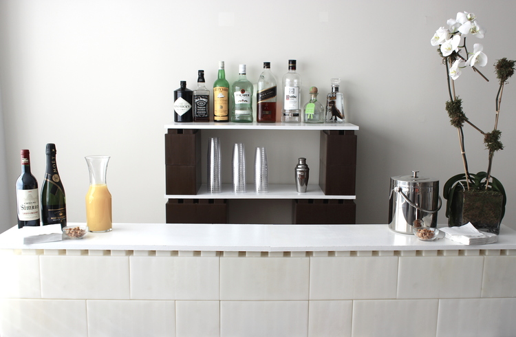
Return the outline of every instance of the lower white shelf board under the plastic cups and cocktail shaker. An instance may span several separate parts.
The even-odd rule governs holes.
[[[269,184],[268,193],[256,193],[254,184],[246,185],[246,193],[233,193],[231,184],[222,184],[221,193],[208,193],[202,184],[195,195],[165,195],[166,199],[356,199],[354,195],[325,195],[319,185],[308,185],[306,193],[297,193],[293,184]]]

